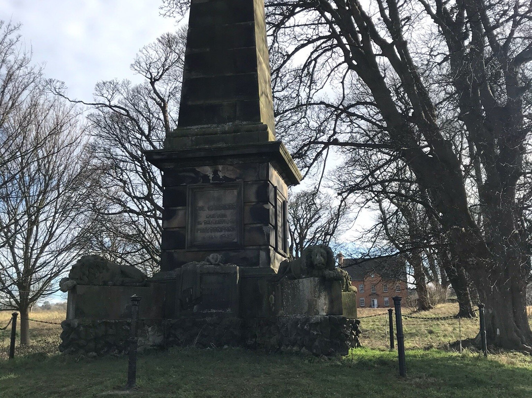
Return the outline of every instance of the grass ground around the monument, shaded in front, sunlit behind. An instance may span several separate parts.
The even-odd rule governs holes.
[[[384,312],[364,310],[359,316]],[[446,304],[413,316],[444,316]],[[410,314],[409,310],[404,311]],[[59,322],[61,313],[33,313],[32,319]],[[363,349],[344,358],[280,355],[242,349],[174,348],[139,356],[138,397],[517,397],[532,396],[532,358],[517,352],[489,355],[448,349],[458,320],[404,319],[408,377],[399,378],[397,353],[385,346],[385,316],[363,318]],[[0,327],[9,314],[0,313]],[[429,322],[428,324],[426,322]],[[465,323],[464,323],[465,322]],[[462,322],[473,337],[478,320]],[[467,322],[471,322],[468,326]],[[123,394],[126,356],[84,358],[56,352],[60,328],[30,324],[32,347],[17,347],[14,360],[0,359],[0,396],[94,397]],[[455,327],[456,325],[456,327]],[[455,333],[456,329],[456,333]],[[0,341],[5,332],[0,332]],[[466,336],[467,335],[467,336]],[[7,337],[6,337],[7,340]],[[55,340],[55,343],[53,343]],[[55,344],[55,347],[54,347]]]

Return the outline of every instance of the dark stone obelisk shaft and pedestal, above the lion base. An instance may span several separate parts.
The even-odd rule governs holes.
[[[263,0],[192,0],[178,127],[146,155],[163,170],[162,271],[218,253],[275,272],[301,174],[275,140]]]

